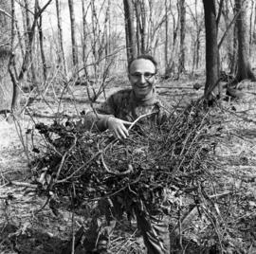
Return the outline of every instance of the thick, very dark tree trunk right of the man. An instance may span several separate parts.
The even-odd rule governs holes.
[[[220,95],[216,10],[214,0],[203,0],[206,28],[206,84],[205,99],[212,100]]]

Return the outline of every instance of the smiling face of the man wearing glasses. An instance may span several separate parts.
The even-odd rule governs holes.
[[[147,59],[137,59],[130,66],[129,80],[138,99],[152,95],[155,85],[155,64]]]

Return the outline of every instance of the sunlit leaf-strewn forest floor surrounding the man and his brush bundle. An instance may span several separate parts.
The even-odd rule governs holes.
[[[170,105],[178,104],[184,108],[203,95],[203,88],[193,89],[195,83],[203,87],[204,79],[187,77],[180,81],[162,81],[157,84],[157,91]],[[107,86],[106,94],[128,85],[117,79]],[[229,203],[226,199],[223,206],[226,210],[219,211],[226,214],[223,217],[226,220],[225,233],[217,233],[225,241],[215,252],[212,248],[210,252],[207,247],[195,251],[188,243],[179,248],[175,245],[172,253],[256,253],[256,86],[246,81],[240,84],[240,88],[244,93],[241,99],[225,98],[215,106],[215,126],[212,126],[212,129],[221,129],[215,148],[220,168],[214,174],[219,177],[221,190],[229,196]],[[90,108],[85,86],[70,87],[61,103],[60,97],[60,92],[49,88],[44,97],[38,96],[33,100],[22,118],[12,122],[0,121],[1,254],[58,254],[64,241],[70,239],[72,232],[82,225],[82,214],[74,217],[73,213],[63,210],[56,216],[47,206],[43,209],[46,198],[27,191],[32,175],[28,164],[33,158],[27,129],[33,128],[36,122],[50,124],[54,118],[62,115],[74,117],[77,112]],[[34,142],[39,140],[35,138]],[[199,220],[199,217],[194,219]],[[203,245],[206,237],[202,237],[203,233],[204,229],[200,227],[193,243]],[[115,253],[131,253],[127,252],[131,245],[134,249],[137,245],[137,251],[133,253],[142,253],[139,252],[142,251],[141,241],[138,239],[135,242],[135,235],[135,232],[118,234],[112,242],[118,249]],[[82,253],[82,249],[76,253]]]

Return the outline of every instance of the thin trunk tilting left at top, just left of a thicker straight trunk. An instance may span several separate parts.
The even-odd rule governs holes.
[[[62,14],[59,0],[56,0],[56,13],[57,13],[57,24],[58,24],[58,41],[59,41],[59,52],[58,62],[62,64],[64,68],[64,74],[66,75],[65,57],[64,57],[64,39],[63,39],[63,27],[62,27]]]

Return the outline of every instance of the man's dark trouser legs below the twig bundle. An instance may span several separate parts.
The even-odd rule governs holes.
[[[85,233],[84,247],[88,251],[107,249],[110,234],[120,219],[119,204],[102,199]],[[169,216],[146,212],[135,206],[137,228],[140,230],[148,254],[169,254]]]

